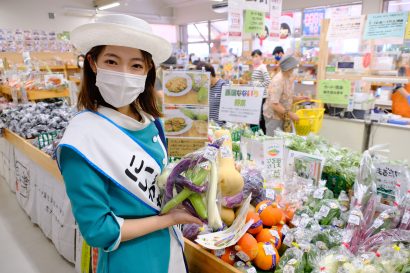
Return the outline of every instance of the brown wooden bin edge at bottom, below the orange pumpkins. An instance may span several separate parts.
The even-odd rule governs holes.
[[[185,239],[185,256],[190,273],[241,273],[188,239]]]

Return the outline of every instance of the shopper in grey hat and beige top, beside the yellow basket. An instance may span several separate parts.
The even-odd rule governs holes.
[[[273,136],[276,129],[283,129],[284,121],[298,121],[299,117],[291,112],[292,104],[308,99],[294,95],[293,71],[298,66],[298,61],[293,56],[286,56],[279,66],[281,71],[273,78],[268,88],[268,98],[263,105],[266,134],[269,136]]]

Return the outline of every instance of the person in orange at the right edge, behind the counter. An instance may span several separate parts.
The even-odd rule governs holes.
[[[399,76],[410,77],[409,60],[403,61],[401,58],[402,67],[399,69]],[[393,89],[392,94],[392,113],[405,118],[410,118],[410,84],[398,84]]]

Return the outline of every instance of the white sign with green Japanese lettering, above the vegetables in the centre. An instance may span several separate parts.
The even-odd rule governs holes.
[[[223,121],[259,124],[263,87],[223,86],[219,119]]]

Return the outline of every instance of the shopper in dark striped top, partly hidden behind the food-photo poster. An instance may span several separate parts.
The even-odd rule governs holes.
[[[200,62],[196,65],[196,70],[202,70],[211,73],[211,88],[209,90],[209,118],[215,121],[219,126],[225,124],[224,121],[219,120],[219,106],[221,105],[222,86],[226,81],[216,76],[214,67],[205,62]]]

